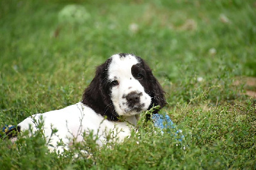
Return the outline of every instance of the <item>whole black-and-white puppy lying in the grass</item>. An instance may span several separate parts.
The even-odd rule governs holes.
[[[18,124],[21,131],[29,125],[36,130],[35,120],[44,120],[44,134],[51,137],[52,128],[58,129],[51,137],[49,150],[62,152],[70,140],[81,142],[84,132],[98,135],[97,144],[106,142],[106,134],[113,132],[116,141],[130,135],[138,115],[153,106],[166,104],[164,91],[152,75],[149,66],[138,56],[115,54],[97,67],[95,77],[84,90],[83,100],[64,109],[35,114]],[[157,112],[154,111],[154,112]],[[120,119],[122,117],[122,121]],[[58,146],[62,139],[67,146]]]

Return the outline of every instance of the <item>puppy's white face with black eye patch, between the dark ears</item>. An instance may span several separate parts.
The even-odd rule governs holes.
[[[146,111],[152,99],[146,93],[149,84],[140,59],[131,54],[116,54],[109,64],[110,96],[119,115],[130,116]]]

